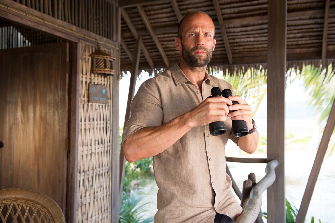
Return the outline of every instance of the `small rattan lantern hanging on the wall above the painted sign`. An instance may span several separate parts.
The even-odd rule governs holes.
[[[100,73],[105,75],[114,74],[113,61],[114,57],[102,50],[102,46],[91,54],[92,57],[92,73]]]

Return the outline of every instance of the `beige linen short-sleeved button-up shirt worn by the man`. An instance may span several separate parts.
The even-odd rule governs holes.
[[[145,81],[131,103],[131,117],[124,129],[122,143],[135,131],[160,126],[180,116],[210,96],[210,90],[231,85],[206,74],[202,96],[179,65]],[[164,152],[153,157],[154,176],[159,188],[155,223],[213,222],[215,211],[236,219],[242,208],[230,190],[225,171],[224,147],[231,133],[212,136],[209,125],[194,127]],[[230,133],[230,134],[229,134]]]

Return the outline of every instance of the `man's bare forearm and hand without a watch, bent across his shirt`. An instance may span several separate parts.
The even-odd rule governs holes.
[[[213,121],[225,121],[228,105],[232,102],[224,97],[205,99],[191,111],[157,127],[141,128],[131,134],[123,144],[123,152],[129,162],[155,156],[176,141],[191,128]]]

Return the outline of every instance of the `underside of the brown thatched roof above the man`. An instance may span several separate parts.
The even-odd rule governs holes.
[[[140,70],[168,68],[179,62],[175,47],[178,23],[195,10],[211,16],[216,27],[216,47],[209,64],[212,70],[243,73],[248,67],[267,68],[267,0],[132,0],[119,4],[123,7],[121,71],[131,69],[138,35],[142,36],[144,46]],[[220,27],[220,16],[224,29]],[[326,1],[320,0],[287,0],[286,36],[288,69],[334,63],[335,1],[326,6]]]

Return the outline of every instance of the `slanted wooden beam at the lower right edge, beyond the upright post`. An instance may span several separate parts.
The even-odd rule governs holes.
[[[332,109],[330,110],[330,113],[329,113],[328,121],[327,121],[325,130],[323,132],[322,138],[321,138],[321,142],[320,142],[319,149],[318,149],[318,152],[314,160],[314,164],[312,167],[310,177],[308,178],[304,197],[301,202],[298,215],[296,217],[296,221],[295,221],[296,223],[305,222],[308,206],[310,205],[310,202],[311,202],[315,184],[318,179],[321,165],[326,155],[326,151],[327,151],[330,137],[332,136],[334,127],[335,127],[335,100],[333,102]]]

